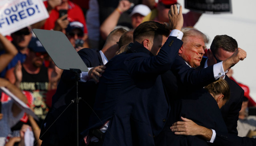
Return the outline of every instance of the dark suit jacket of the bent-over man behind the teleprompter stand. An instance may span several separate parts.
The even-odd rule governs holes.
[[[103,65],[99,50],[84,48],[78,52],[87,67]],[[93,80],[78,82],[78,97],[82,97],[90,106],[93,106],[97,84]],[[57,117],[76,98],[75,74],[69,70],[64,70],[56,93],[52,97],[52,109],[48,112],[44,123],[45,129],[57,119]],[[76,103],[71,104],[60,116],[48,132],[42,137],[43,143],[48,145],[74,145],[76,144]],[[79,102],[79,133],[88,125],[92,110],[88,105],[80,100]],[[42,126],[41,134],[45,131]]]

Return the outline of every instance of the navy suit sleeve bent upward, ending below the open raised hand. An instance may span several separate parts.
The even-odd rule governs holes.
[[[170,36],[156,56],[148,57],[146,56],[147,54],[145,56],[138,55],[127,59],[124,63],[128,67],[131,75],[164,73],[171,68],[182,44],[183,42],[180,39]]]

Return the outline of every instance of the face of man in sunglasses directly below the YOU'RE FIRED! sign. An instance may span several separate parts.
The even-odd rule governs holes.
[[[31,37],[32,34],[28,31],[28,29],[24,28],[12,33],[12,42],[20,49],[27,48]]]

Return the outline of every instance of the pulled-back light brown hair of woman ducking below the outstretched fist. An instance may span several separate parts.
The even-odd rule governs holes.
[[[228,82],[224,79],[216,80],[211,84],[205,86],[204,89],[207,90],[209,93],[212,93],[213,96],[223,94],[223,100],[228,101],[230,98],[230,88]]]

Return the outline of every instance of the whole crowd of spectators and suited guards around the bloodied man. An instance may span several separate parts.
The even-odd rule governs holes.
[[[246,51],[225,34],[207,49],[209,38],[193,28],[201,13],[182,14],[177,0],[44,5],[49,18],[0,34],[0,87],[38,118],[1,91],[0,146],[256,145],[256,113],[248,114],[256,102],[231,69]],[[34,28],[67,36],[89,69],[78,86]]]

